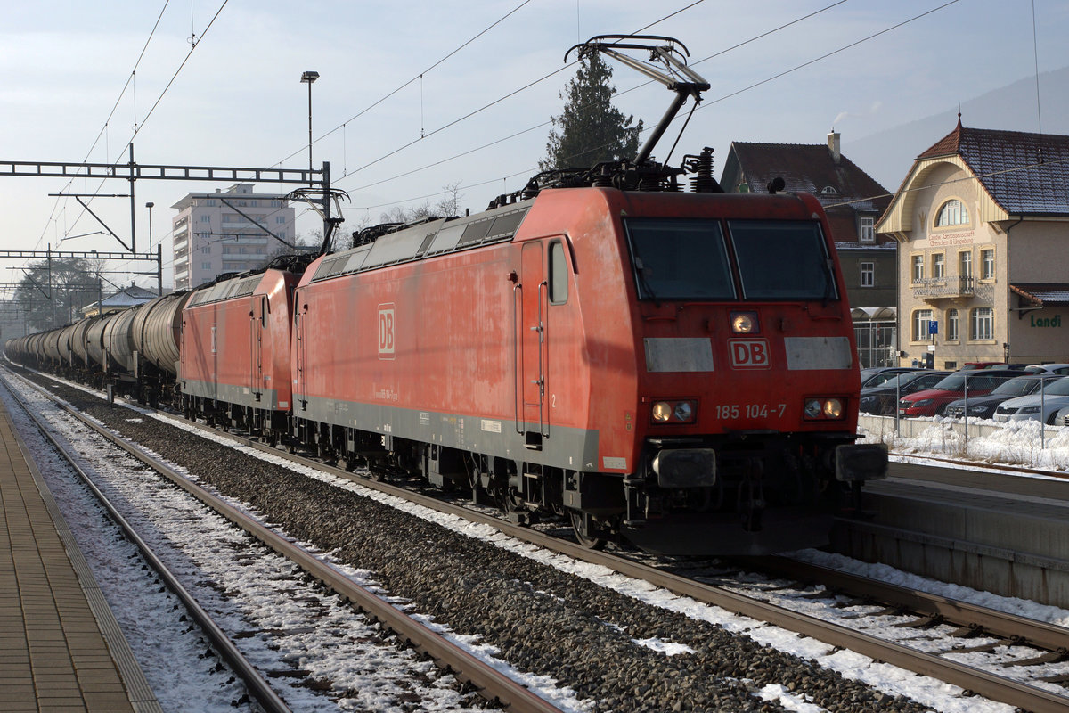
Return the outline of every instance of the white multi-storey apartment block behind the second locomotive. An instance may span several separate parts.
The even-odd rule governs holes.
[[[254,193],[252,184],[189,193],[172,205],[174,289],[188,290],[224,273],[244,273],[288,250],[293,243],[294,210],[285,196]]]

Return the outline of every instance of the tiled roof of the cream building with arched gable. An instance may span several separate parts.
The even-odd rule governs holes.
[[[961,156],[1010,215],[1069,214],[1069,136],[958,125],[917,160]]]

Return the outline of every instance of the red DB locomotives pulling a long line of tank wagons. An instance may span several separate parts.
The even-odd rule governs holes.
[[[548,172],[476,215],[5,348],[347,470],[562,517],[591,547],[819,545],[887,459],[854,443],[824,212],[779,188],[721,191],[708,150]]]

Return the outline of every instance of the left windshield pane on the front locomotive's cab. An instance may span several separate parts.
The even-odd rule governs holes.
[[[632,218],[625,226],[639,299],[734,299],[719,221]]]

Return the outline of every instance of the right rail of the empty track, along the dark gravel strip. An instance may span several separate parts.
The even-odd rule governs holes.
[[[55,399],[52,394],[45,393],[50,399]],[[523,684],[512,680],[489,664],[483,663],[464,649],[443,638],[430,627],[406,616],[397,607],[354,583],[337,568],[317,559],[306,549],[265,527],[259,521],[217,498],[207,490],[191,482],[166,464],[160,463],[136,445],[79,414],[77,409],[72,408],[61,401],[57,401],[56,403],[109,441],[115,444],[197,499],[210,506],[275,552],[295,562],[310,575],[397,633],[400,638],[417,651],[434,658],[439,668],[450,670],[456,678],[470,683],[480,692],[483,698],[491,701],[498,701],[506,710],[514,711],[515,713],[560,713],[559,708],[539,697]],[[205,430],[215,432],[215,429]]]

